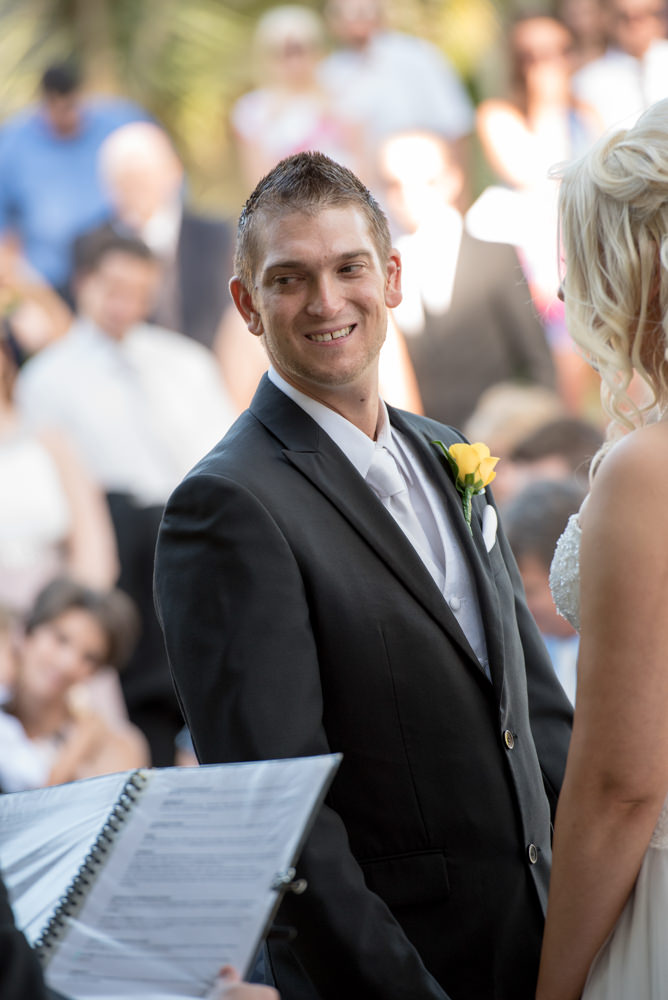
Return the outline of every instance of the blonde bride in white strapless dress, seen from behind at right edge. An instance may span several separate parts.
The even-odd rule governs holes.
[[[562,536],[581,628],[537,1000],[668,997],[668,100],[564,171],[571,336],[613,443]]]

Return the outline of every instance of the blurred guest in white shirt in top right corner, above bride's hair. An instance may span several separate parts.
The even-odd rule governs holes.
[[[578,97],[603,128],[628,128],[650,104],[668,97],[664,0],[601,0],[610,44],[573,78]]]

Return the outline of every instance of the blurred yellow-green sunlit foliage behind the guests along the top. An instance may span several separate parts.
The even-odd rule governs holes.
[[[51,62],[74,56],[86,89],[123,94],[170,132],[190,195],[234,212],[239,178],[229,128],[254,84],[249,53],[266,0],[0,0],[0,117],[36,95]],[[306,3],[320,10],[322,4]],[[532,10],[546,5],[533,4]],[[503,32],[521,5],[491,0],[390,0],[392,27],[434,42],[474,101],[503,89]],[[485,180],[477,158],[474,192]]]

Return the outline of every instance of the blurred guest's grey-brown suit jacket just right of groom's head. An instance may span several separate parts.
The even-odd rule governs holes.
[[[517,253],[506,243],[462,234],[452,299],[443,315],[425,312],[406,335],[424,411],[462,427],[497,382],[556,386],[545,331]]]

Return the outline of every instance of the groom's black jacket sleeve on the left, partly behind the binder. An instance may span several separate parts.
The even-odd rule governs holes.
[[[202,762],[330,751],[307,587],[255,496],[215,475],[191,476],[178,488],[158,541],[156,600]],[[327,805],[299,874],[309,888],[285,900],[281,919],[297,926],[294,950],[322,998],[446,1000],[366,888],[344,825]]]

